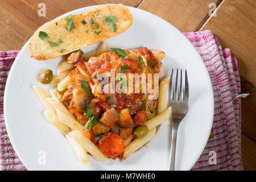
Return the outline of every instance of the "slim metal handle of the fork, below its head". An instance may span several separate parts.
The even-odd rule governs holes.
[[[177,128],[179,126],[179,122],[176,120],[177,118],[172,118],[172,136],[171,136],[171,153],[170,153],[169,171],[175,170]]]

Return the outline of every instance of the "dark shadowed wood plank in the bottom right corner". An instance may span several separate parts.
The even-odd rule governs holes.
[[[256,169],[256,142],[242,134],[242,160],[245,170],[255,171]]]

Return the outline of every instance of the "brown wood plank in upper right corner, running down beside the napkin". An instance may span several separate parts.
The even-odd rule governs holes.
[[[224,1],[200,30],[212,30],[223,48],[230,48],[238,59],[238,67],[245,86],[246,80],[256,85],[256,3],[254,0]],[[243,93],[249,90],[243,90]],[[242,132],[256,140],[256,92],[242,99]]]

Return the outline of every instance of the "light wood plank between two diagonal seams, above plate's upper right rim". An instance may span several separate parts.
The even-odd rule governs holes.
[[[209,17],[209,4],[216,3],[217,6],[220,2],[221,0],[144,0],[138,8],[160,16],[181,32],[191,32],[198,30]]]

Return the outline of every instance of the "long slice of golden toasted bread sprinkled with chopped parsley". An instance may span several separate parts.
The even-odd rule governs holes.
[[[117,19],[114,22],[117,24],[116,32],[110,29],[103,16],[116,16]],[[65,18],[53,19],[36,30],[30,42],[31,57],[37,60],[47,60],[66,55],[69,52],[118,35],[127,30],[133,23],[133,17],[127,7],[114,4],[101,5],[84,13],[72,15],[72,19],[75,28],[71,31],[65,28],[67,26],[67,20]],[[97,35],[93,32],[96,26],[95,24],[89,23],[90,19],[97,22],[99,26],[97,32],[101,31],[100,34]],[[85,20],[87,23],[85,25],[82,24],[82,20]],[[89,31],[86,33],[85,30]],[[47,32],[49,38],[40,39],[39,31]],[[58,39],[63,40],[63,43],[55,47],[49,46],[49,41],[57,42]],[[60,52],[60,48],[63,48],[64,51]]]

